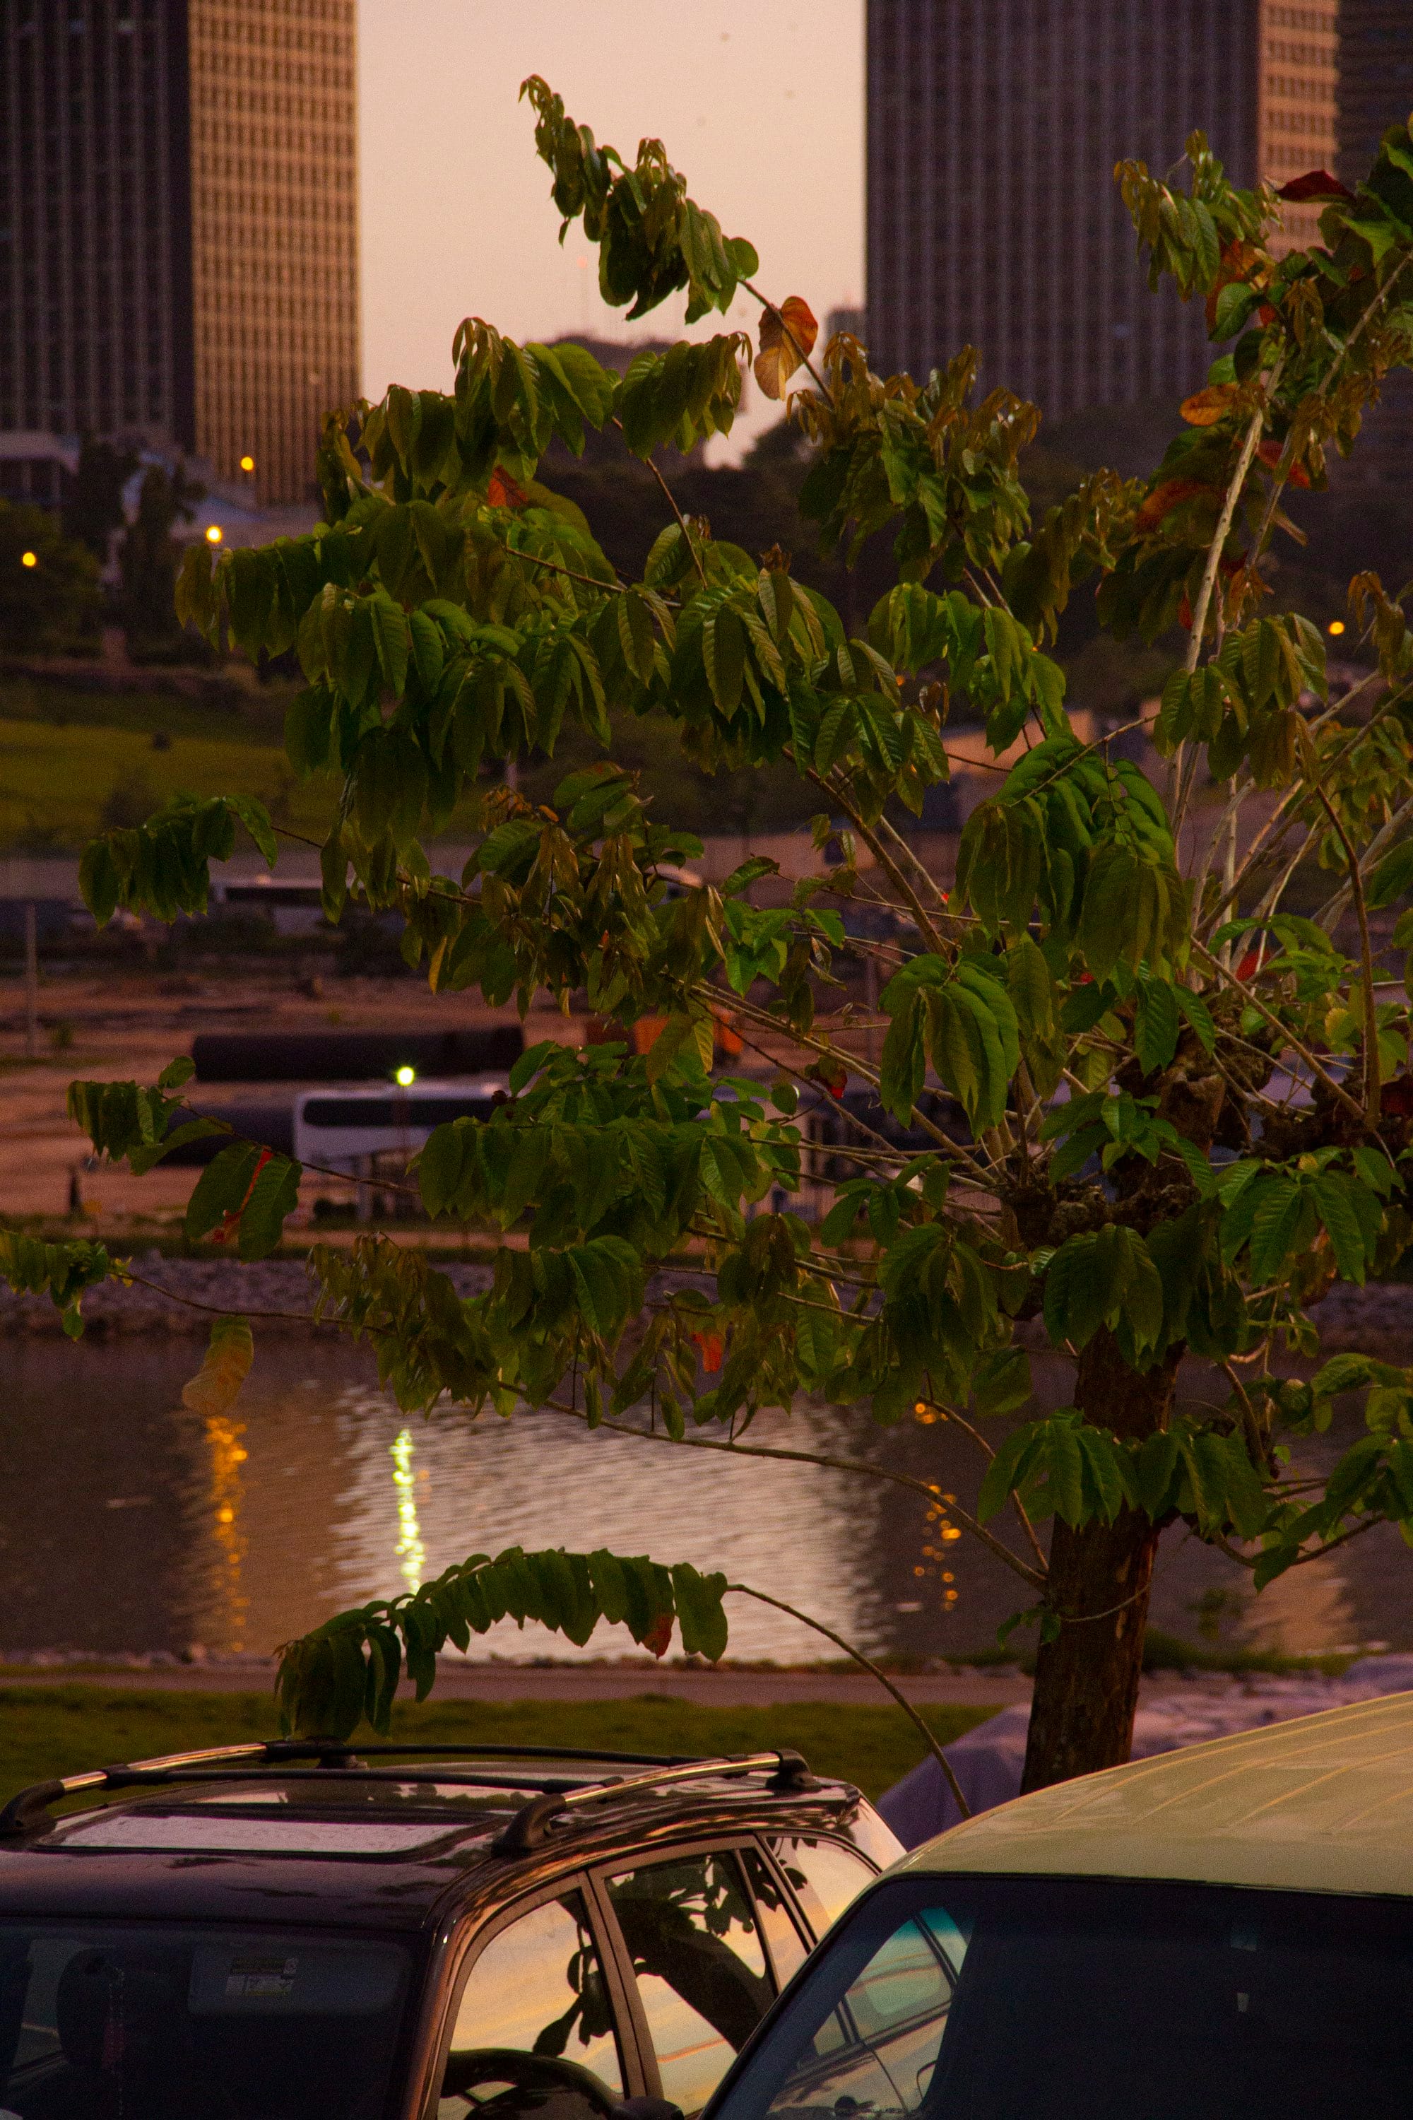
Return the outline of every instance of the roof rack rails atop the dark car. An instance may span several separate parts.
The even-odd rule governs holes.
[[[286,1781],[320,1783],[326,1783],[328,1774],[343,1772],[354,1772],[360,1783],[366,1783],[369,1779],[439,1783],[464,1779],[447,1774],[445,1770],[419,1772],[417,1768],[409,1770],[407,1766],[392,1764],[369,1766],[366,1762],[373,1757],[388,1762],[487,1760],[504,1766],[513,1766],[521,1760],[544,1762],[544,1766],[536,1766],[532,1772],[506,1772],[498,1779],[477,1774],[475,1783],[470,1783],[475,1787],[532,1787],[542,1791],[517,1810],[511,1825],[496,1842],[496,1847],[504,1847],[506,1853],[519,1847],[538,1847],[544,1838],[547,1821],[559,1815],[566,1806],[614,1796],[623,1789],[672,1785],[676,1781],[701,1779],[710,1774],[748,1774],[765,1768],[773,1768],[771,1787],[775,1789],[784,1791],[813,1785],[809,1768],[797,1751],[763,1751],[703,1760],[699,1755],[682,1753],[610,1749],[583,1751],[570,1745],[350,1745],[339,1743],[337,1738],[261,1738],[248,1745],[212,1745],[203,1751],[172,1751],[161,1753],[155,1760],[131,1760],[119,1766],[97,1766],[83,1774],[66,1774],[55,1781],[36,1781],[28,1789],[13,1796],[0,1810],[0,1840],[17,1840],[25,1834],[42,1830],[53,1804],[61,1802],[66,1796],[78,1796],[85,1789],[150,1789],[174,1783],[191,1785],[227,1781],[227,1768],[282,1768],[282,1779]],[[316,1762],[314,1770],[299,1764],[305,1760]],[[551,1772],[549,1762],[566,1766],[580,1762],[585,1766],[642,1766],[646,1772],[629,1777],[614,1774],[610,1779],[587,1774],[583,1779],[566,1779],[564,1774]]]

